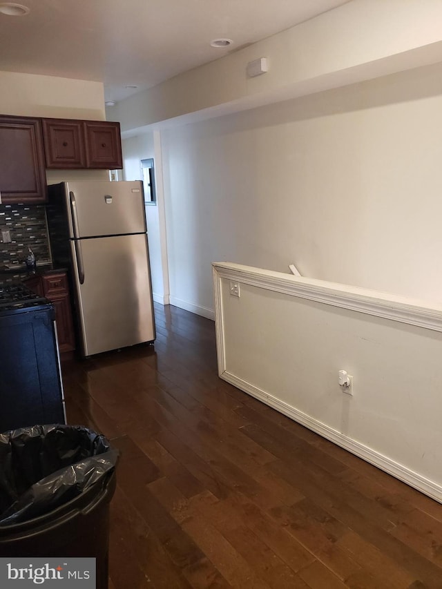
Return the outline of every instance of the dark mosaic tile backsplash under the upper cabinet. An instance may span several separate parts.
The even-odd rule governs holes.
[[[1,231],[10,231],[10,243]],[[0,265],[23,262],[29,247],[37,262],[50,261],[44,204],[0,204]]]

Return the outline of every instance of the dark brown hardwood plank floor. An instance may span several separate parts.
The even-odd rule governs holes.
[[[442,505],[217,376],[213,322],[64,364],[69,423],[119,448],[110,589],[442,588]]]

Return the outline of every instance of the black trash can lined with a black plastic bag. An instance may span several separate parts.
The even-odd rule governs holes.
[[[0,555],[94,557],[97,589],[106,589],[117,458],[106,438],[86,427],[0,434]]]

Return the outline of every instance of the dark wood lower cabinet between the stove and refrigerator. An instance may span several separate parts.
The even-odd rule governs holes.
[[[45,296],[54,305],[60,354],[72,354],[75,350],[75,334],[66,272],[53,271],[32,276],[25,283],[28,288]]]

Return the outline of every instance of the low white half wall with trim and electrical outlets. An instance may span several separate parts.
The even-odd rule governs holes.
[[[213,282],[221,378],[442,502],[442,307],[228,262]]]

